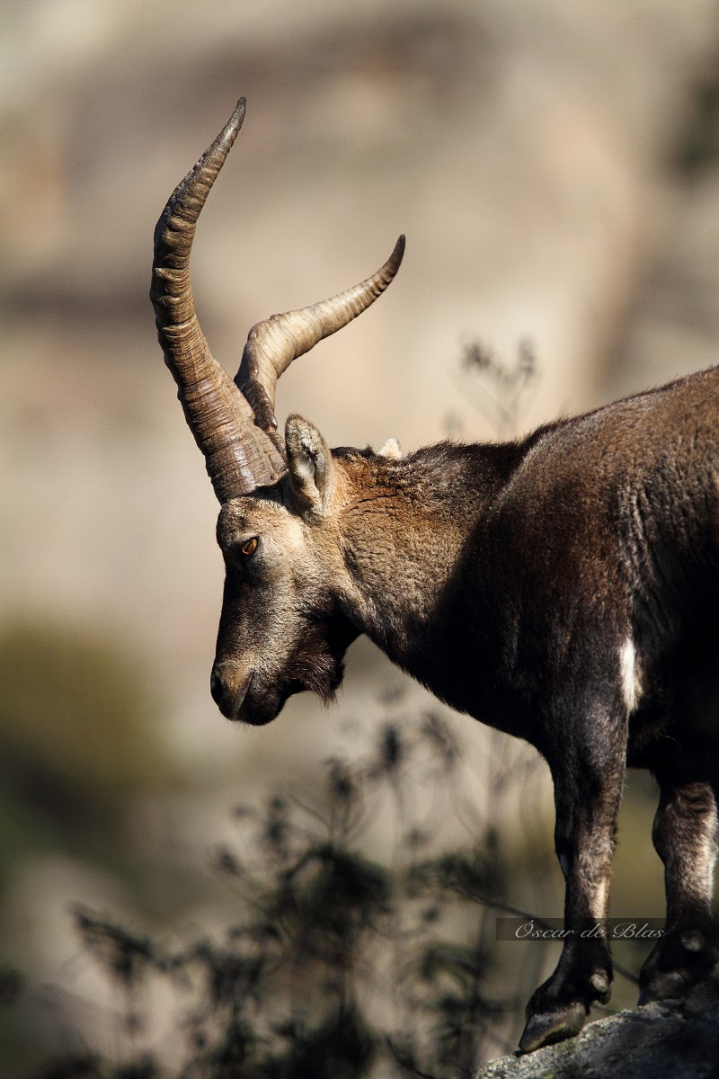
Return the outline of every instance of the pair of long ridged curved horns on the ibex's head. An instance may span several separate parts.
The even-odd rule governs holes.
[[[165,363],[221,503],[276,483],[287,472],[275,386],[293,359],[342,329],[381,296],[400,268],[404,236],[367,281],[330,300],[272,315],[249,332],[233,382],[213,358],[192,295],[195,227],[245,119],[245,99],[170,195],[155,227],[150,299]]]

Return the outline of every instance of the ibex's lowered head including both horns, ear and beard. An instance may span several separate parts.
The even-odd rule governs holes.
[[[165,363],[221,503],[217,534],[226,576],[212,697],[224,715],[263,724],[302,689],[330,699],[358,633],[342,603],[336,535],[346,478],[308,421],[292,415],[285,437],[278,434],[275,385],[293,359],[387,288],[402,261],[404,237],[360,285],[253,326],[233,382],[212,357],[195,315],[190,251],[199,213],[244,119],[240,99],[165,206],[155,229],[150,296]],[[387,455],[396,453],[393,443]]]

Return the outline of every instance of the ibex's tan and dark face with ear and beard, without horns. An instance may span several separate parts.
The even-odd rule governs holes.
[[[217,527],[225,585],[212,696],[254,725],[302,689],[330,700],[357,636],[341,602],[341,470],[307,421],[291,418],[286,437],[286,479],[265,497],[225,503]]]

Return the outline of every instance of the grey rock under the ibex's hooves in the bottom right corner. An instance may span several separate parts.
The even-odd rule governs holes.
[[[682,1002],[665,1001],[590,1023],[526,1056],[502,1056],[475,1079],[710,1079],[719,1075],[719,976]]]

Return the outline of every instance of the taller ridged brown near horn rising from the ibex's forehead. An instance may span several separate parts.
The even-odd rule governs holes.
[[[245,99],[170,195],[155,228],[150,299],[165,363],[221,503],[276,482],[286,472],[281,442],[254,423],[252,409],[213,358],[190,281],[195,226],[245,119]]]

